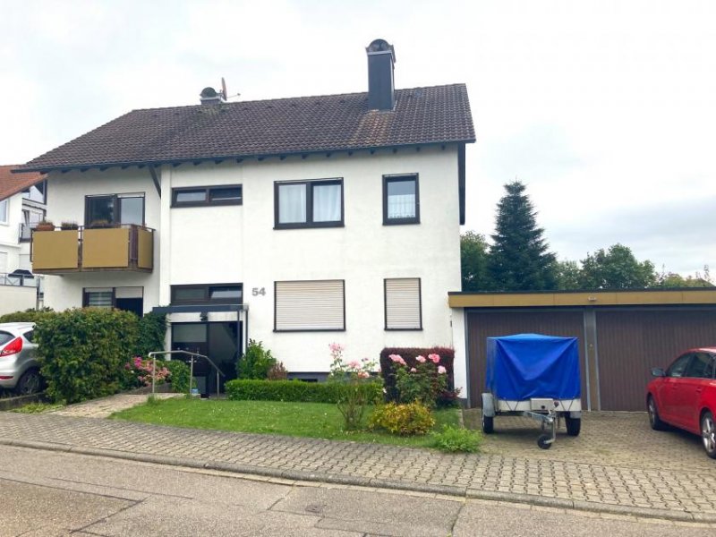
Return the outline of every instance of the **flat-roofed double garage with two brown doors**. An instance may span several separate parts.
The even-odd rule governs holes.
[[[487,337],[519,333],[579,340],[582,403],[643,411],[652,367],[687,348],[716,345],[716,289],[589,293],[450,293],[465,310],[468,405],[480,405]]]

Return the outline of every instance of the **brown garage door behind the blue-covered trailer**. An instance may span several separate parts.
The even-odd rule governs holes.
[[[586,408],[584,375],[584,316],[582,311],[469,311],[467,355],[470,363],[470,406],[482,405],[485,388],[486,340],[512,334],[577,337],[582,371],[582,405]]]

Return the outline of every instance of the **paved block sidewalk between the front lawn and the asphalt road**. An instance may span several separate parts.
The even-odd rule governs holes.
[[[586,418],[584,430],[589,426]],[[644,466],[634,457],[628,464],[615,464],[608,457],[600,462],[598,456],[583,463],[578,457],[559,456],[560,443],[568,446],[565,435],[560,435],[550,451],[535,446],[520,456],[510,456],[496,453],[490,442],[490,453],[447,455],[425,449],[186,430],[56,413],[0,413],[0,430],[0,443],[11,446],[716,523],[716,464],[705,456],[703,465],[691,470]],[[536,438],[535,430],[530,434]],[[644,451],[642,459],[648,459]]]

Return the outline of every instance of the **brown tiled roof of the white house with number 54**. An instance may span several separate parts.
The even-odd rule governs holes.
[[[471,142],[465,84],[396,90],[395,111],[367,93],[134,110],[20,166],[27,171],[161,164]]]

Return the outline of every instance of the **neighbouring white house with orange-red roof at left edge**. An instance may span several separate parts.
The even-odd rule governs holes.
[[[0,315],[38,305],[31,273],[30,229],[45,217],[45,176],[0,166]]]

